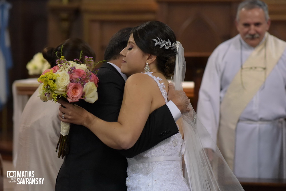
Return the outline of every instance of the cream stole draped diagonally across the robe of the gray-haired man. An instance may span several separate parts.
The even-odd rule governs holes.
[[[266,71],[261,72],[249,69],[245,72],[239,70],[229,85],[221,103],[218,146],[231,170],[233,170],[235,150],[235,129],[239,117],[263,85],[265,79],[273,70],[286,48],[286,42],[268,33],[265,35],[265,41],[255,48],[243,64],[243,68],[265,67],[264,64],[266,63]]]

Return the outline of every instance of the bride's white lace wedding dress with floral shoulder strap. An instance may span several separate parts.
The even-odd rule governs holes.
[[[167,103],[164,83],[160,84],[159,82],[162,79],[152,76],[152,72],[145,74],[157,82]],[[182,144],[183,139],[179,132],[151,149],[133,158],[127,158],[126,186],[128,186],[128,190],[190,190],[182,173]]]

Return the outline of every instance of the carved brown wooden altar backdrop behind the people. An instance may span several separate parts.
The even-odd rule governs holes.
[[[65,0],[67,1],[67,0]],[[110,37],[123,27],[148,20],[168,24],[185,49],[186,81],[194,81],[192,105],[196,110],[198,90],[208,57],[222,42],[237,34],[235,16],[241,0],[50,0],[50,45],[78,36],[88,42],[103,60]],[[272,20],[269,32],[286,40],[286,1],[265,0]]]

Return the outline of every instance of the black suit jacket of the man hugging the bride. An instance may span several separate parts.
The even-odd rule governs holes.
[[[108,63],[102,65],[97,75],[98,100],[93,104],[85,101],[77,104],[100,119],[117,121],[125,81]],[[176,133],[178,128],[166,105],[150,114],[140,138],[127,150],[112,149],[88,128],[71,124],[69,154],[57,176],[55,190],[127,190],[126,157],[146,151]]]

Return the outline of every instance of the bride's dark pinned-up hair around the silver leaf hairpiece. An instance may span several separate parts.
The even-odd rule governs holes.
[[[176,44],[176,36],[172,29],[160,21],[148,21],[132,29],[136,45],[145,53],[157,56],[157,68],[167,78],[174,75],[176,52],[171,48],[154,46],[158,38]],[[157,38],[158,37],[158,38]]]

